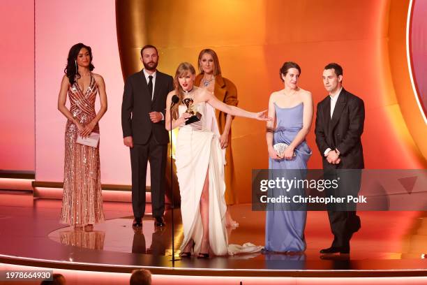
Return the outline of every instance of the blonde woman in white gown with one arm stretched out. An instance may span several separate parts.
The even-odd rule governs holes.
[[[248,112],[226,105],[206,89],[195,87],[195,68],[186,62],[179,64],[175,73],[175,90],[167,96],[166,129],[179,127],[176,145],[177,176],[181,193],[181,215],[183,242],[181,256],[191,256],[191,249],[199,258],[209,258],[209,252],[216,256],[260,251],[253,244],[228,245],[225,228],[225,182],[224,156],[220,148],[215,110],[227,114],[271,120],[263,112]],[[170,108],[172,96],[179,101]],[[186,124],[191,115],[183,99],[193,100],[193,109],[202,117],[200,121]]]

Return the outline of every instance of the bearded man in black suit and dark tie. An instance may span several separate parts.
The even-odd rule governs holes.
[[[174,89],[170,75],[157,71],[153,45],[141,49],[142,71],[126,80],[121,105],[123,143],[130,148],[134,227],[142,226],[145,212],[147,161],[151,170],[151,207],[156,226],[164,226],[165,166],[169,134],[165,129],[166,97]]]

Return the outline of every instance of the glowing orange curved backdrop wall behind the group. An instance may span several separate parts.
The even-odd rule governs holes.
[[[408,127],[410,122],[402,114],[412,111],[400,105],[401,96],[414,98],[405,54],[408,5],[409,1],[400,0],[336,4],[237,0],[193,5],[162,0],[149,10],[140,5],[145,9],[140,10],[143,36],[130,50],[136,61],[137,45],[156,45],[160,70],[173,74],[181,61],[196,64],[198,52],[211,47],[218,53],[223,76],[237,85],[239,106],[254,111],[266,109],[269,94],[282,88],[278,70],[284,61],[301,66],[300,86],[312,92],[316,104],[327,96],[323,67],[338,62],[344,68],[345,88],[365,101],[366,168],[425,168],[427,156],[421,149],[426,142],[415,142],[413,136],[425,134],[426,126]],[[123,72],[133,71],[123,66],[121,57]],[[321,168],[313,129],[307,138],[313,149],[308,166]],[[264,123],[234,119],[232,140],[238,200],[248,203],[251,170],[268,167]]]

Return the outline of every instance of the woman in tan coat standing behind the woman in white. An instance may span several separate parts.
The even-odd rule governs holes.
[[[197,59],[200,74],[195,78],[194,85],[207,89],[212,92],[218,100],[227,105],[237,106],[237,89],[236,86],[221,75],[221,68],[216,52],[207,48],[200,52]],[[220,131],[220,146],[225,149],[225,202],[228,205],[236,203],[234,191],[234,164],[231,147],[231,125],[233,117],[220,110],[216,110],[216,120]],[[227,208],[225,214],[225,224],[227,227],[236,228],[239,226],[237,221],[231,217]]]

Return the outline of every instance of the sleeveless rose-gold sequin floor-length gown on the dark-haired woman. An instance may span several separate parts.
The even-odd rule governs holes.
[[[98,86],[92,73],[86,91],[83,92],[77,82],[68,89],[70,112],[83,126],[89,124],[96,116],[97,93]],[[99,133],[98,124],[93,132]],[[68,120],[65,132],[61,223],[84,226],[104,220],[99,145],[95,148],[78,144],[77,133],[77,126]]]

